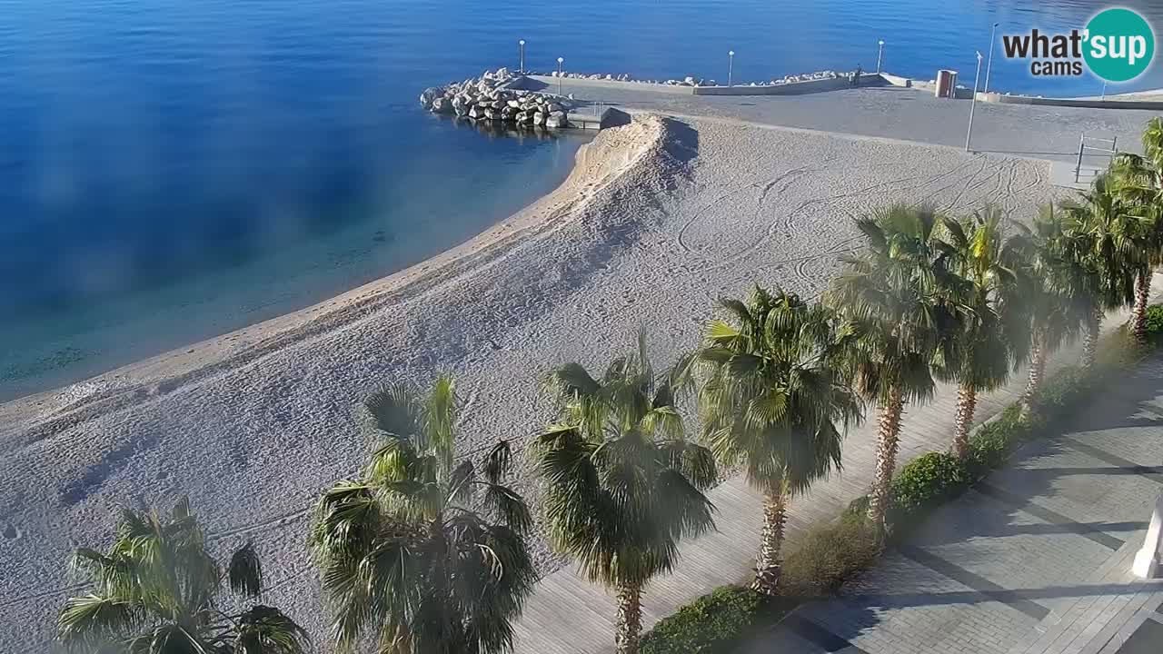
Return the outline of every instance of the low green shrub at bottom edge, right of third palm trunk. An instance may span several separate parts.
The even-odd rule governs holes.
[[[742,587],[722,587],[668,616],[642,638],[642,654],[726,653],[770,604]]]

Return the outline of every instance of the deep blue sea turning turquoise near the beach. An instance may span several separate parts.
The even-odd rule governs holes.
[[[485,67],[765,79],[972,70],[1034,0],[0,0],[0,399],[391,273],[552,189],[579,138],[490,137],[419,91]],[[1156,24],[1163,8],[1130,2]],[[1097,94],[997,59],[993,87]],[[1112,92],[1163,87],[1158,66]]]

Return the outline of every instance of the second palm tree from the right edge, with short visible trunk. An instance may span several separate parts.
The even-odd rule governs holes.
[[[1066,237],[1072,241],[1075,256],[1092,270],[1092,282],[1097,284],[1083,341],[1082,364],[1090,368],[1094,364],[1106,311],[1134,301],[1135,277],[1146,261],[1136,240],[1141,228],[1106,173],[1096,177],[1091,189],[1078,200],[1065,200],[1061,208],[1066,216]]]

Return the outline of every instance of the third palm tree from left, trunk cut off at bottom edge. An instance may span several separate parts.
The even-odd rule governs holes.
[[[569,363],[549,385],[561,419],[536,452],[550,541],[591,582],[615,589],[616,648],[634,654],[643,587],[675,567],[682,539],[714,526],[704,495],[716,479],[714,456],[684,440],[673,382],[655,375],[644,336],[600,379]]]

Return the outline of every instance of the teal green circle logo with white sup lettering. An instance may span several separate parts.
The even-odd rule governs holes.
[[[1091,72],[1107,81],[1129,81],[1143,74],[1155,58],[1155,31],[1130,9],[1104,9],[1086,23],[1083,58]]]

